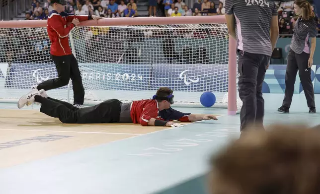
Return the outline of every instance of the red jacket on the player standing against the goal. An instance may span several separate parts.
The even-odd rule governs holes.
[[[79,21],[91,19],[90,15],[76,16],[66,12],[60,14],[53,10],[50,12],[47,21],[47,32],[51,41],[50,53],[55,56],[63,56],[72,54],[69,46],[69,33],[75,27],[74,24],[68,25],[74,18]]]

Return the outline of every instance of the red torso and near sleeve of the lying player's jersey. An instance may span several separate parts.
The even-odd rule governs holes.
[[[157,119],[159,113],[158,101],[155,99],[142,99],[131,104],[131,119],[133,123],[147,126],[151,118]]]

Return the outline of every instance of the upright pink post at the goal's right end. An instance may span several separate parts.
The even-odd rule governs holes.
[[[237,41],[229,36],[228,115],[237,114]]]

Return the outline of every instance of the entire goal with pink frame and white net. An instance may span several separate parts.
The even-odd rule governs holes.
[[[16,102],[32,86],[57,77],[46,25],[0,21],[1,102]],[[174,106],[201,107],[201,94],[211,91],[213,107],[237,113],[237,43],[225,16],[105,18],[81,22],[69,35],[85,104],[148,99],[163,86],[174,91]],[[72,82],[48,95],[72,102]]]

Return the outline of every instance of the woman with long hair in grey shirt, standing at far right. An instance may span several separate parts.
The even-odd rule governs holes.
[[[311,81],[311,66],[318,34],[315,13],[307,0],[295,0],[294,11],[299,16],[294,26],[286,70],[286,90],[279,112],[289,113],[297,72],[307,98],[309,113],[316,113],[315,93]],[[309,38],[311,38],[311,48]]]

